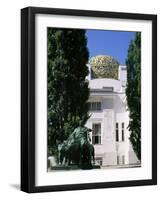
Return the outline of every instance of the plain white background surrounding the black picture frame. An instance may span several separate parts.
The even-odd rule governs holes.
[[[75,9],[93,9],[118,12],[137,12],[158,14],[158,36],[161,35],[160,0],[5,0],[0,6],[0,199],[16,200],[56,200],[56,199],[160,199],[161,174],[158,172],[159,185],[115,189],[57,192],[44,194],[25,194],[17,188],[20,183],[20,8],[25,6],[46,6]],[[158,52],[161,41],[158,38]],[[158,53],[159,55],[159,53]],[[158,66],[161,66],[158,56]],[[161,76],[161,69],[158,67]],[[161,85],[161,79],[158,80]],[[158,90],[159,92],[159,90]],[[158,95],[161,102],[161,93]],[[158,105],[158,112],[161,104]],[[158,114],[159,121],[161,114]],[[161,141],[161,123],[158,124],[158,144]],[[158,152],[161,144],[158,145]],[[158,156],[158,169],[161,159]]]

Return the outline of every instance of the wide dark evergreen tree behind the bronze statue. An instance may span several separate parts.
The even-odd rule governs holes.
[[[48,28],[48,153],[88,119],[85,30]]]

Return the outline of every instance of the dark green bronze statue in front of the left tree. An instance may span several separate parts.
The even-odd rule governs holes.
[[[63,144],[59,145],[60,164],[77,165],[83,169],[91,169],[94,164],[94,147],[90,143],[91,129],[79,126]]]

